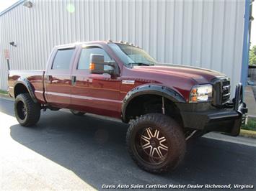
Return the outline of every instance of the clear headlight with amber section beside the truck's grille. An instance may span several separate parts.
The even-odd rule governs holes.
[[[213,86],[211,84],[195,85],[190,91],[190,103],[211,101]]]

